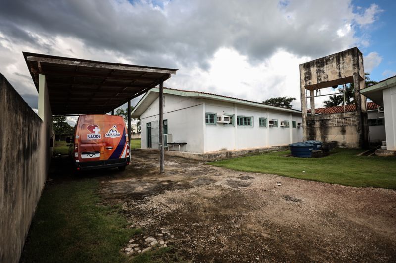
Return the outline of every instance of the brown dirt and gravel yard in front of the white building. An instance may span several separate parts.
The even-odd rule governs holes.
[[[114,171],[99,179],[100,193],[123,205],[130,227],[143,229],[129,244],[131,257],[155,239],[154,247],[172,245],[192,262],[396,262],[393,190],[168,156],[158,175],[157,153],[142,151],[132,152],[124,172]]]

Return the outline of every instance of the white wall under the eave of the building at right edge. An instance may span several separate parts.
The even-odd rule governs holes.
[[[396,150],[396,87],[384,89],[382,95],[387,150]]]

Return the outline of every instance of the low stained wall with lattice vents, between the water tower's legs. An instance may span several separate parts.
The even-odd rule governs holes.
[[[359,147],[355,112],[307,116],[306,122],[308,140],[336,141],[338,146],[345,148]]]

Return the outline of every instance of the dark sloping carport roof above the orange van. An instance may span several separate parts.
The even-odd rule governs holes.
[[[177,71],[28,52],[23,55],[37,90],[39,74],[46,76],[53,115],[111,112]]]

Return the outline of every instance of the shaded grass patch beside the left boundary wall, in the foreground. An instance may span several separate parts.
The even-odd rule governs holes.
[[[30,227],[24,262],[126,262],[119,252],[140,230],[128,229],[119,206],[100,203],[98,181],[49,185]]]

